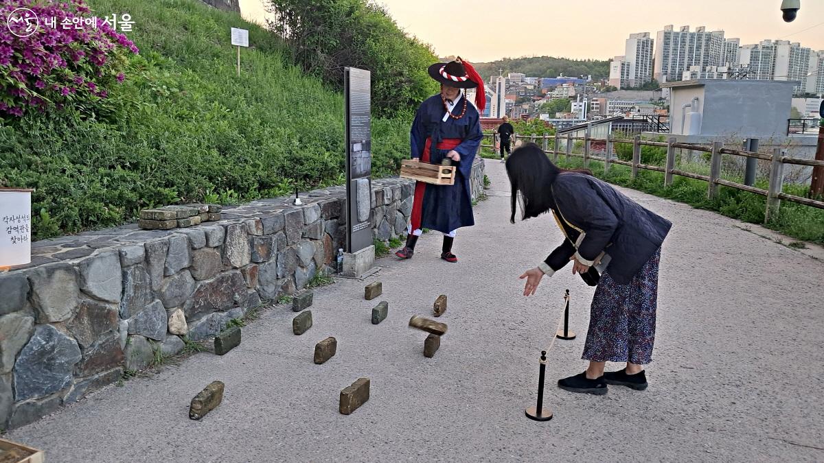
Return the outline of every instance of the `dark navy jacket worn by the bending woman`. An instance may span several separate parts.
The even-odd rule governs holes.
[[[591,175],[559,174],[551,190],[552,212],[567,237],[545,260],[555,271],[569,263],[576,249],[583,264],[592,264],[606,252],[611,257],[606,270],[612,278],[630,283],[672,227],[667,219]]]

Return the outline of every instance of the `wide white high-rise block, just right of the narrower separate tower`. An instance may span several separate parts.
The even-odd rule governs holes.
[[[701,26],[692,32],[690,26],[680,30],[666,26],[658,31],[653,77],[658,82],[671,82],[681,80],[692,66],[719,66],[725,43],[723,30],[707,32]]]

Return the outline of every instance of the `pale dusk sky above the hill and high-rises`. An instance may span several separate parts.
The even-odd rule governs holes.
[[[780,0],[378,0],[398,26],[435,49],[477,63],[549,55],[609,59],[624,54],[634,32],[663,26],[724,30],[741,44],[765,39],[824,49],[824,0],[802,0],[794,22]]]

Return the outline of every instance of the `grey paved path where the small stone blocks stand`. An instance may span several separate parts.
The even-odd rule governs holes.
[[[47,461],[824,461],[824,262],[714,213],[626,193],[674,223],[662,251],[658,339],[650,387],[576,395],[555,387],[583,371],[592,288],[569,269],[522,297],[518,275],[560,242],[550,217],[508,222],[503,165],[487,161],[490,198],[477,226],[456,238],[459,264],[438,260],[428,234],[413,260],[378,260],[367,282],[316,291],[314,326],[291,332],[276,307],[243,330],[225,356],[199,353],[179,367],[110,387],[7,438]],[[363,300],[379,279],[383,296]],[[526,419],[538,356],[572,293],[573,341],[549,353],[548,423]],[[434,358],[407,326],[438,294],[449,325]],[[370,323],[388,301],[389,317]],[[338,353],[312,362],[314,345]],[[608,365],[608,369],[614,369]],[[338,413],[339,391],[361,376],[372,396]],[[199,422],[191,398],[226,383],[222,405]]]

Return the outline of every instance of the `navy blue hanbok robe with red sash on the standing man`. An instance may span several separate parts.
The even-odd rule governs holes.
[[[466,95],[461,96],[461,100],[457,101],[455,107],[452,108],[453,115],[461,115],[464,101],[466,101]],[[443,116],[446,114],[447,110],[438,94],[420,105],[412,123],[410,132],[412,157],[440,165],[452,149],[461,155],[461,161],[452,161],[452,165],[457,167],[455,185],[431,185],[418,182],[415,186],[411,218],[413,230],[429,228],[442,233],[450,233],[460,227],[475,225],[475,217],[472,215],[470,174],[472,161],[475,160],[475,153],[483,139],[480,115],[475,105],[468,101],[466,113],[461,119],[450,117],[443,121]]]

